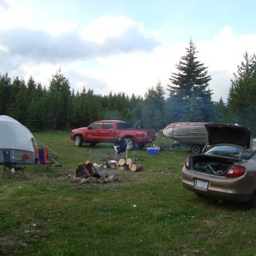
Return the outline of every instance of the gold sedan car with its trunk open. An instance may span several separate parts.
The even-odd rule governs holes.
[[[202,154],[190,155],[183,166],[183,187],[196,195],[256,207],[253,133],[240,125],[208,124],[206,128],[207,145]]]

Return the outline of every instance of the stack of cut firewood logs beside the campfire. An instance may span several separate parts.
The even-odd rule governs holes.
[[[137,163],[137,159],[126,157],[123,154],[119,155],[103,155],[103,168],[130,170],[132,172],[143,171],[143,165]]]

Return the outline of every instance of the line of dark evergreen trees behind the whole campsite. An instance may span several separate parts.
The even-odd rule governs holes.
[[[245,53],[237,73],[230,80],[227,103],[212,102],[211,76],[197,58],[190,41],[172,73],[167,93],[160,81],[144,96],[120,92],[99,95],[92,89],[75,92],[59,69],[49,80],[49,87],[32,77],[10,79],[0,73],[0,114],[6,114],[31,131],[68,131],[90,125],[99,119],[122,119],[132,127],[142,119],[144,128],[156,131],[179,121],[237,123],[256,132],[256,58]]]

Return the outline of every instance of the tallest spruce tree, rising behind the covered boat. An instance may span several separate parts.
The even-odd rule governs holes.
[[[208,121],[212,119],[212,91],[208,88],[211,77],[207,67],[196,57],[192,40],[187,54],[177,64],[167,85],[169,91],[169,118],[172,121]]]

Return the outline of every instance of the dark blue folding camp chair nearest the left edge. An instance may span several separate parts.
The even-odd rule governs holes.
[[[3,179],[26,178],[24,169],[26,166],[21,166],[20,161],[12,161],[10,159],[10,151],[3,150]]]

